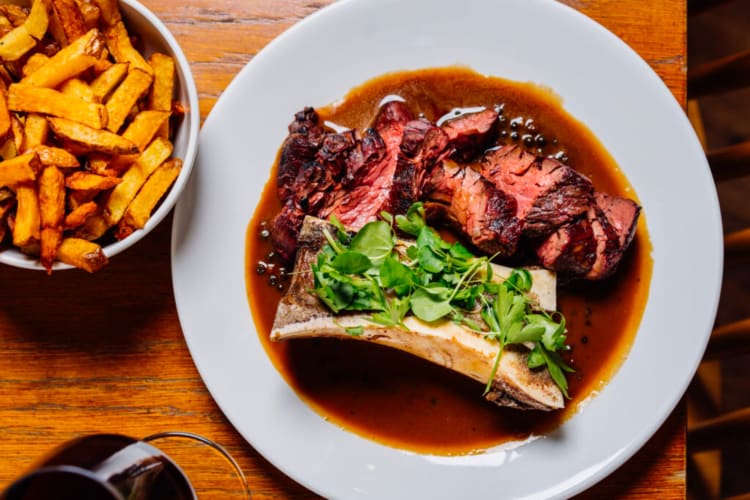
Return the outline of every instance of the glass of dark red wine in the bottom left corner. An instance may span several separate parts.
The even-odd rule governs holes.
[[[180,457],[193,466],[212,468],[205,474],[209,479],[200,485],[191,483],[178,465]],[[217,457],[221,462],[215,473]],[[0,500],[203,500],[211,496],[249,500],[245,475],[219,444],[174,431],[142,439],[91,434],[67,441],[0,493]]]

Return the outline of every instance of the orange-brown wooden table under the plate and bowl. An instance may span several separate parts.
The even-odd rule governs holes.
[[[142,0],[192,64],[201,116],[275,36],[329,0]],[[685,0],[567,0],[638,51],[685,103]],[[171,221],[95,276],[0,268],[0,485],[73,436],[197,432],[237,457],[254,498],[314,498],[224,418],[188,353],[172,297]],[[586,498],[684,498],[682,405]],[[219,494],[216,498],[226,498]]]

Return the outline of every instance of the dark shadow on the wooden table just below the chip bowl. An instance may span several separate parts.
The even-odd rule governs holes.
[[[169,220],[93,275],[0,266],[0,336],[46,349],[128,350],[148,335],[144,325],[175,308]]]

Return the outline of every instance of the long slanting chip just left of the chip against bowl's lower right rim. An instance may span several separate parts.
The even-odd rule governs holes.
[[[122,218],[130,201],[146,179],[172,154],[172,143],[157,137],[133,165],[123,174],[122,182],[115,186],[104,207],[107,224],[114,226]]]

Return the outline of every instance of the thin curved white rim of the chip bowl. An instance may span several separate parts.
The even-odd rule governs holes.
[[[193,165],[195,164],[195,158],[198,153],[198,134],[200,132],[200,106],[198,103],[198,91],[195,86],[195,80],[190,68],[190,63],[188,62],[187,57],[185,57],[185,54],[182,51],[182,47],[177,42],[174,35],[172,35],[172,32],[169,30],[169,28],[167,28],[167,26],[161,21],[161,19],[159,19],[156,14],[154,14],[138,0],[119,0],[119,3],[120,8],[123,10],[123,17],[125,18],[126,22],[128,21],[128,17],[132,15],[132,13],[141,16],[146,22],[151,24],[156,31],[159,32],[159,34],[163,38],[163,42],[168,47],[169,51],[172,52],[172,56],[175,58],[175,61],[177,63],[177,74],[175,75],[177,85],[184,87],[185,95],[188,100],[188,107],[183,120],[187,121],[187,125],[189,126],[189,135],[187,137],[186,151],[183,155],[180,155],[180,158],[182,159],[182,170],[177,176],[174,184],[142,228],[135,230],[127,238],[102,246],[102,250],[107,258],[112,258],[136,244],[153,228],[155,228],[162,220],[164,220],[167,214],[174,208],[174,205],[177,203],[177,199],[179,198],[180,194],[182,194],[182,191],[184,190],[185,185],[190,178]],[[25,255],[15,247],[4,248],[0,250],[0,264],[37,271],[46,270],[39,262],[38,257]],[[75,267],[60,261],[55,261],[52,266],[53,271],[62,271],[66,269],[75,269]]]

